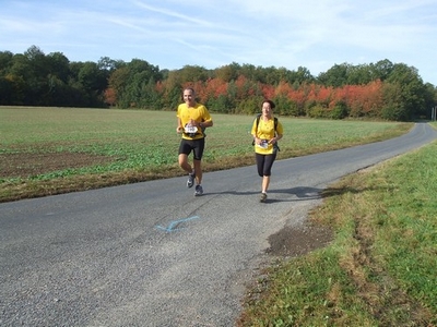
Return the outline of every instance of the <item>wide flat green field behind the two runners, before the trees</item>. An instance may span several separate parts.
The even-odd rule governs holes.
[[[253,165],[253,117],[212,113],[204,170]],[[394,137],[411,123],[280,118],[279,159]],[[0,107],[0,202],[182,175],[174,111]]]

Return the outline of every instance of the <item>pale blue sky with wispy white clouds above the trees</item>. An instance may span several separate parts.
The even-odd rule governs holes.
[[[436,0],[0,0],[0,51],[160,69],[232,62],[317,76],[334,64],[415,66],[437,86]]]

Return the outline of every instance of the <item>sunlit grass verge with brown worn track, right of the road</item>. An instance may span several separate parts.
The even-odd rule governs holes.
[[[333,241],[267,268],[238,326],[437,326],[436,153],[434,142],[327,189],[309,223]]]

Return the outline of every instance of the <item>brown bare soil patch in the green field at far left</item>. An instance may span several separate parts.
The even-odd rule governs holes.
[[[83,153],[0,154],[0,178],[29,177],[107,164],[114,158]]]

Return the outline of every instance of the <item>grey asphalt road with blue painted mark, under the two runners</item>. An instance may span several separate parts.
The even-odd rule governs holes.
[[[265,204],[255,166],[205,173],[202,197],[174,178],[0,204],[0,325],[233,326],[269,235],[302,225],[331,182],[436,137],[418,123],[277,160]]]

